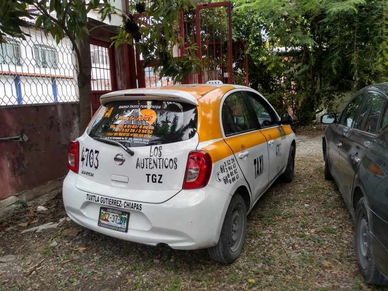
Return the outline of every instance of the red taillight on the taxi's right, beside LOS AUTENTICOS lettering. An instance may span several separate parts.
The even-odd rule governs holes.
[[[187,160],[183,189],[205,187],[209,182],[212,164],[207,152],[191,151]]]

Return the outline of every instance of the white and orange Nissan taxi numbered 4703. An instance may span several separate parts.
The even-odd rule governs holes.
[[[230,84],[130,89],[100,102],[69,145],[68,216],[115,238],[208,248],[233,262],[247,213],[277,178],[293,178],[291,116]]]

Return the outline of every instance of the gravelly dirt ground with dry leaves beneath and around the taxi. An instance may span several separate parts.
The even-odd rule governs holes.
[[[323,130],[296,130],[294,179],[259,200],[230,265],[210,261],[206,250],[152,247],[78,226],[58,190],[1,210],[0,291],[387,290],[358,272],[352,217],[323,178]],[[28,231],[37,226],[46,229]]]

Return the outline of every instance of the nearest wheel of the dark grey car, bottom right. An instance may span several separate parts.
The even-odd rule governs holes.
[[[369,284],[388,285],[388,279],[376,267],[371,244],[369,214],[365,198],[362,197],[355,214],[355,249],[357,265],[364,280]]]

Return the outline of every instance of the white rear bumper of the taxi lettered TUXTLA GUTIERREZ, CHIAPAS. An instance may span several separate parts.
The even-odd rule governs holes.
[[[144,203],[117,199],[114,187],[109,192],[100,193],[97,182],[90,191],[77,189],[77,176],[70,172],[63,185],[65,210],[74,222],[115,238],[149,245],[165,243],[174,249],[216,245],[232,197],[208,185],[182,190],[163,203]],[[100,208],[107,206],[129,212],[128,232],[98,226]]]

